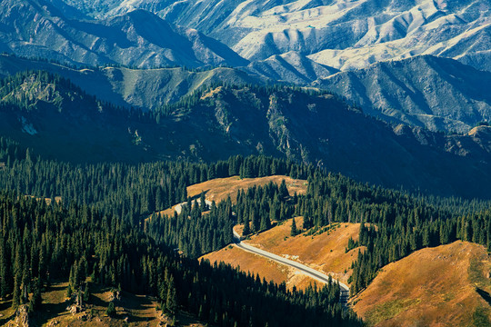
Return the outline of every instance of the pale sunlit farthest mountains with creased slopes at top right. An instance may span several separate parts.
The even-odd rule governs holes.
[[[98,0],[67,0],[78,8]],[[347,70],[416,54],[491,71],[486,0],[113,1],[102,16],[144,8],[215,37],[251,60],[297,51]]]

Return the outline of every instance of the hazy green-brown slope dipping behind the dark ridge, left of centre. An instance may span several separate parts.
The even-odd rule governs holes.
[[[132,69],[101,67],[76,69],[62,64],[28,60],[0,54],[0,76],[25,70],[60,74],[80,86],[87,94],[124,107],[154,109],[178,101],[211,84],[265,84],[266,80],[234,68],[190,71],[185,68]]]

